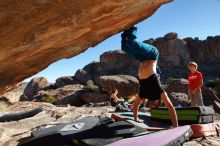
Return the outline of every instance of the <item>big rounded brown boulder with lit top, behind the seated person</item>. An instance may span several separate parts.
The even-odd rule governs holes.
[[[96,83],[107,93],[118,89],[118,96],[124,98],[136,95],[139,91],[138,80],[129,75],[101,76],[96,78]]]

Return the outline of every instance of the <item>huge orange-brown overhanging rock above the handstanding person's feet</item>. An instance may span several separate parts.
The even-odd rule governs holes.
[[[0,0],[0,94],[80,54],[172,0]]]

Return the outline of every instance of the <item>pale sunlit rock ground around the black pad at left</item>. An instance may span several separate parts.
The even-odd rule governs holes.
[[[76,108],[70,106],[56,107],[47,103],[18,102],[12,106],[4,108],[4,110],[1,110],[0,114],[27,111],[36,107],[42,107],[44,111],[31,118],[0,123],[1,146],[17,146],[19,142],[30,138],[32,131],[41,128],[47,128],[61,123],[71,122],[73,120],[88,116],[110,117],[110,112],[114,111],[114,108],[110,106],[98,108]]]

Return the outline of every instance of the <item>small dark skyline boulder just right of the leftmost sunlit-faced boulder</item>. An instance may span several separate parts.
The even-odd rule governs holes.
[[[56,79],[56,83],[55,86],[57,88],[66,86],[66,85],[72,85],[72,84],[78,84],[79,81],[73,77],[73,76],[65,76],[65,77],[60,77],[58,79]]]

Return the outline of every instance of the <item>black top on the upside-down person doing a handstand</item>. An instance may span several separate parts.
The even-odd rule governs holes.
[[[161,87],[160,80],[156,74],[151,75],[146,79],[139,79],[140,91],[139,97],[149,100],[159,100],[164,89]]]

